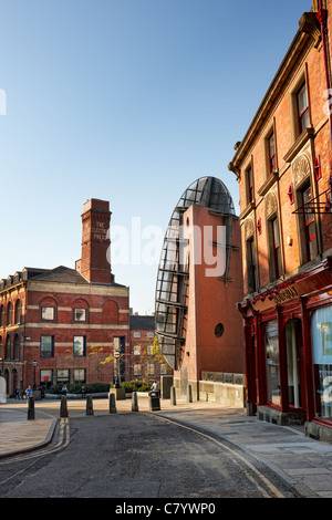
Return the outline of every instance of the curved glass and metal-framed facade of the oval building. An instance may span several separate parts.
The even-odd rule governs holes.
[[[184,320],[189,275],[188,258],[181,258],[180,227],[184,212],[193,204],[205,206],[225,217],[227,243],[231,243],[231,225],[228,221],[235,216],[228,189],[215,177],[201,177],[193,183],[172,214],[157,272],[155,323],[160,353],[174,370],[178,368],[180,351],[185,344]],[[229,254],[227,262],[229,263]]]

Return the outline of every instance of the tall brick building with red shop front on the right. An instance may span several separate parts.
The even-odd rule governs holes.
[[[332,2],[313,2],[229,165],[239,181],[248,409],[331,435]],[[324,25],[326,20],[326,25]]]

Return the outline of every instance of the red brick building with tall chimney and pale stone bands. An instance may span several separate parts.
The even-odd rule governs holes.
[[[114,381],[113,361],[101,362],[114,350],[129,353],[129,297],[111,271],[110,220],[108,202],[89,200],[76,269],[24,268],[0,281],[0,375],[8,394],[34,383]],[[122,378],[126,371],[123,363]]]

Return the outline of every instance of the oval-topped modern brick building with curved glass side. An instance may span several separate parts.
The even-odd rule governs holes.
[[[203,177],[170,217],[156,287],[156,332],[174,385],[221,401],[225,374],[245,373],[240,227],[228,189]],[[219,386],[218,386],[219,385]]]

